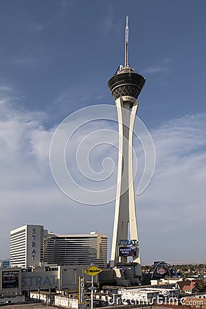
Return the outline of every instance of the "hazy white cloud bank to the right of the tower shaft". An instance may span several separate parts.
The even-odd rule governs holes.
[[[152,262],[154,249],[161,260],[205,260],[205,126],[206,115],[185,115],[152,132],[155,174],[146,192],[137,197],[142,256],[147,262]]]

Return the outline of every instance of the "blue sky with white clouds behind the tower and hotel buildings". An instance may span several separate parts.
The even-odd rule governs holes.
[[[141,262],[206,262],[205,12],[205,0],[0,2],[0,258],[9,257],[10,230],[25,224],[54,233],[100,231],[110,251],[115,202],[89,206],[63,194],[49,148],[68,115],[115,105],[106,83],[124,64],[128,15],[129,64],[146,78],[137,114],[156,151],[152,181],[135,195]],[[84,124],[67,145],[71,173],[89,190],[72,160],[78,141],[104,129],[117,131],[117,123]],[[115,184],[117,176],[117,135],[105,136],[108,144],[94,148],[89,161],[101,172],[111,156],[114,170],[92,190]],[[134,150],[136,191],[144,170],[137,138]],[[111,168],[105,165],[108,174]]]

